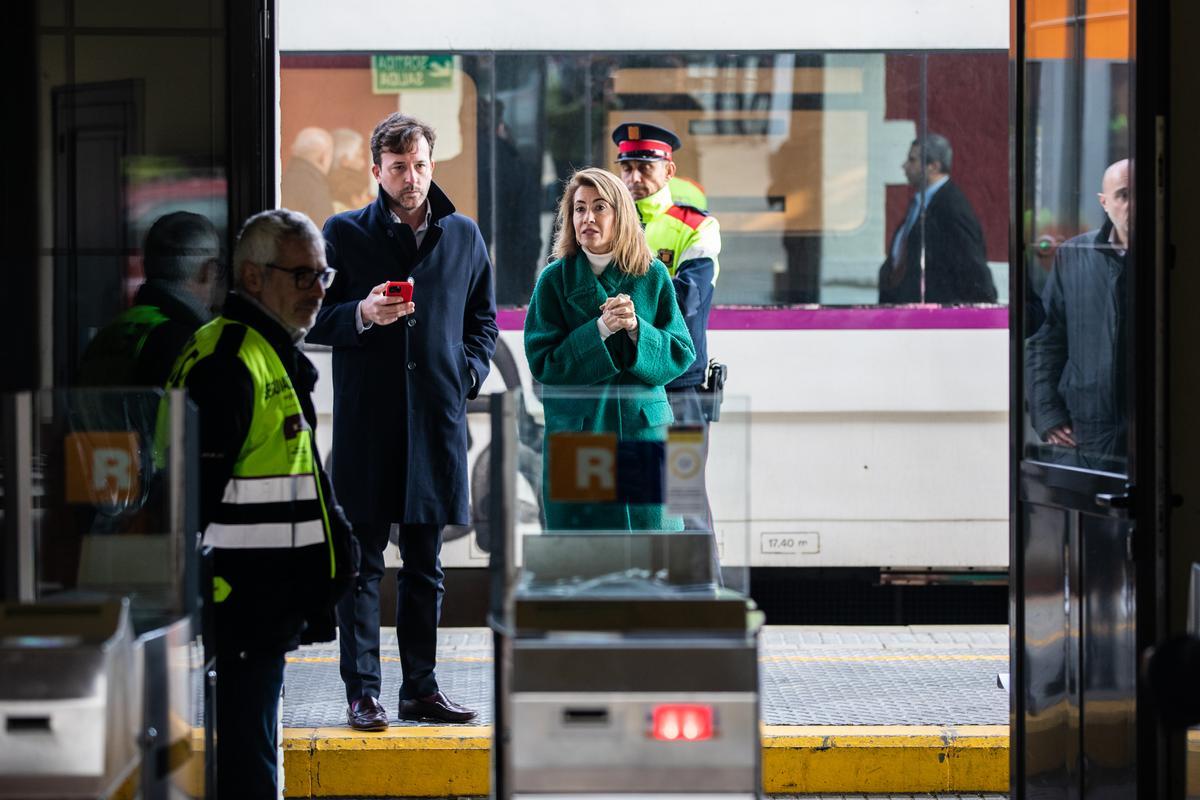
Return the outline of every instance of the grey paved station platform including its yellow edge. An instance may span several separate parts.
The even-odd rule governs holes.
[[[289,655],[284,794],[476,798],[488,790],[492,634],[446,628],[438,682],[470,724],[396,721],[400,658],[383,636],[386,732],[346,724],[337,646]],[[767,626],[760,649],[763,790],[982,795],[1008,790],[1006,626]]]

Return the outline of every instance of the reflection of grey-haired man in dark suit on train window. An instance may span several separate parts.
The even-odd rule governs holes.
[[[996,302],[979,219],[950,181],[950,143],[929,133],[904,162],[916,190],[880,267],[880,302]]]

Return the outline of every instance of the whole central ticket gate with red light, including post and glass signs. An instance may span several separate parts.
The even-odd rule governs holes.
[[[582,393],[566,398],[581,409],[593,401]],[[517,398],[510,393],[491,402],[494,796],[758,798],[757,639],[763,616],[745,595],[722,585],[714,535],[546,530],[542,519],[518,513],[515,501],[516,485],[526,479],[518,455],[530,446],[504,435],[517,429]],[[744,426],[734,425],[721,431],[721,468],[731,474],[720,482],[736,487],[745,475],[738,457],[748,449]],[[623,452],[620,438],[602,431],[571,431],[558,443],[553,435],[533,443],[546,455],[545,480],[559,481],[557,487],[542,485],[545,501],[568,494],[563,481],[592,477],[606,463],[617,469],[614,476],[601,477],[614,477],[608,487],[617,488],[607,497],[616,500],[586,500],[558,519],[625,513],[620,487],[629,479],[620,470],[629,453],[641,459],[638,501],[646,503],[647,494],[658,498],[636,513],[653,511],[658,501],[670,516],[680,488],[691,492],[688,497],[698,500],[697,511],[703,512],[703,485],[698,493],[694,482],[673,486],[670,473],[676,464],[696,464],[695,450],[688,450],[702,435],[695,428],[682,431],[678,439],[672,429],[658,441],[656,452],[644,441]],[[588,458],[605,447],[616,456],[605,459],[601,453],[587,469],[575,470],[570,459],[581,447]],[[647,468],[649,459],[653,462]],[[644,492],[655,481],[660,488]],[[709,486],[713,482],[710,477]],[[731,494],[730,505],[744,501],[744,492]]]

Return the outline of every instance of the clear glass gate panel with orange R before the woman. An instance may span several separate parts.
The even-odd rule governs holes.
[[[709,425],[710,401],[542,385],[523,409],[523,585],[564,596],[745,591],[749,402],[724,397]]]

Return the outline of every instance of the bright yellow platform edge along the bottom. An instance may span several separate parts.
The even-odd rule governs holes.
[[[486,795],[484,726],[283,732],[288,798]],[[764,726],[767,794],[1008,792],[1008,726]]]

